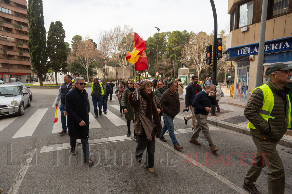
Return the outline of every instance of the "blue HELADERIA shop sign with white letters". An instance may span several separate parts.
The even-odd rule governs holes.
[[[292,49],[292,36],[269,40],[265,42],[264,53],[286,51]],[[224,60],[237,60],[242,56],[258,54],[258,43],[226,49]]]

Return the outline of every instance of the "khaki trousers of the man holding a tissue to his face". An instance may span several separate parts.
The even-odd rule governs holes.
[[[197,122],[196,126],[193,132],[193,135],[191,136],[191,139],[196,141],[197,138],[199,137],[200,131],[204,134],[205,138],[207,139],[210,148],[216,147],[211,139],[211,135],[209,133],[209,127],[207,125],[207,117],[208,115],[195,115]]]

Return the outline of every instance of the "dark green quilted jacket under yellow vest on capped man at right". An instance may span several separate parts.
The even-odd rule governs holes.
[[[266,84],[274,95],[274,106],[270,116],[275,118],[269,118],[268,122],[265,122],[258,115],[264,99],[263,91],[260,88],[251,94],[244,110],[244,116],[256,127],[256,129],[251,129],[252,136],[277,143],[287,132],[287,122],[285,121],[285,117],[288,118],[289,109],[287,94],[291,88],[284,86],[285,95],[283,95],[283,90],[277,88],[272,81],[269,80]]]

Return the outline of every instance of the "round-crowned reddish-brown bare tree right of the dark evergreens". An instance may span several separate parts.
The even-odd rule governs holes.
[[[89,36],[85,36],[78,42],[76,48],[73,48],[73,54],[79,64],[86,69],[87,80],[89,80],[88,68],[98,56],[98,51]]]

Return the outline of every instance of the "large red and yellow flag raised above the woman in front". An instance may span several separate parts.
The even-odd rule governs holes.
[[[147,57],[144,52],[146,41],[143,41],[137,33],[135,33],[134,39],[134,49],[131,53],[127,52],[126,60],[129,63],[135,63],[135,71],[143,71],[148,69]]]

